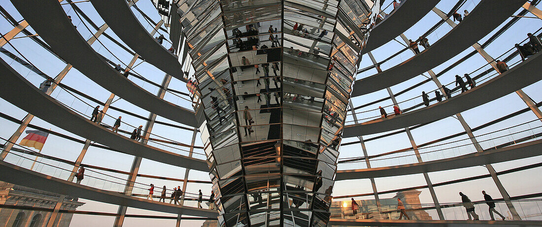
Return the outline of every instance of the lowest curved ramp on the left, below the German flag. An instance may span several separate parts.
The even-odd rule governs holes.
[[[218,213],[215,210],[199,209],[190,206],[177,206],[169,203],[160,203],[158,201],[126,196],[118,192],[100,190],[98,188],[75,184],[74,182],[37,173],[4,161],[0,161],[0,172],[2,172],[2,174],[0,174],[0,180],[2,181],[76,198],[179,215],[208,218],[216,218],[218,216]]]

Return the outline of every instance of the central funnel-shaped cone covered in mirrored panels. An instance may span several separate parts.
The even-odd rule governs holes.
[[[327,224],[369,4],[177,3],[220,225]]]

